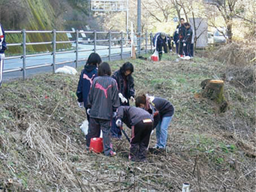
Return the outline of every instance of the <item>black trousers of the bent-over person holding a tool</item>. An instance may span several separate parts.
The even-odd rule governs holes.
[[[146,160],[148,143],[153,128],[153,123],[137,123],[131,128],[131,148],[129,159],[143,162]]]

